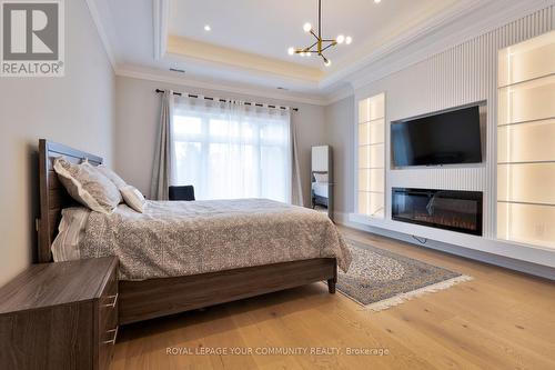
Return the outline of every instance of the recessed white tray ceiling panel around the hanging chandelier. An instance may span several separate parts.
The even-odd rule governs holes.
[[[322,36],[349,34],[354,40],[351,46],[331,48],[326,54],[334,61],[332,66],[341,67],[361,48],[386,42],[465,1],[322,0]],[[287,54],[289,47],[313,42],[303,31],[305,22],[316,28],[317,0],[171,0],[169,34],[326,70],[321,59]],[[204,30],[205,24],[211,26],[210,32]]]

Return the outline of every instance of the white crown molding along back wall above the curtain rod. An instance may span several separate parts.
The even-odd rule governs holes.
[[[154,69],[137,69],[133,66],[122,66],[117,69],[117,76],[134,78],[147,81],[155,81],[161,83],[170,83],[182,87],[216,90],[228,93],[244,94],[252,97],[262,97],[266,99],[275,99],[282,101],[289,101],[294,103],[305,103],[312,106],[327,106],[327,99],[325,97],[306,97],[295,93],[280,93],[274,91],[269,91],[266,89],[261,89],[256,87],[245,87],[236,84],[223,84],[214,83],[209,81],[193,80],[184,77],[172,77],[168,76],[165,71],[158,71]]]

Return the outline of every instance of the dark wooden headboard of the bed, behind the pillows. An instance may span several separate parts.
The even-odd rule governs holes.
[[[58,233],[61,211],[63,208],[75,204],[58,180],[58,174],[53,169],[54,159],[61,156],[72,163],[80,163],[83,159],[93,166],[102,163],[101,157],[44,139],[39,140],[40,218],[37,220],[39,262],[52,261],[50,247]]]

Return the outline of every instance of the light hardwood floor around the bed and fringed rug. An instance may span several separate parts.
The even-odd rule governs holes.
[[[553,281],[341,230],[474,280],[381,312],[364,311],[315,283],[127,326],[111,369],[555,369]],[[201,353],[220,348],[228,354]],[[341,354],[231,354],[231,348],[339,349]],[[349,356],[347,348],[389,353]]]

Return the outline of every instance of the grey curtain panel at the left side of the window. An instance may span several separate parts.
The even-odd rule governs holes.
[[[154,166],[152,169],[152,182],[150,184],[150,198],[153,200],[169,199],[172,156],[172,121],[173,91],[164,90],[162,94],[162,108],[160,111],[157,150],[154,152]]]

